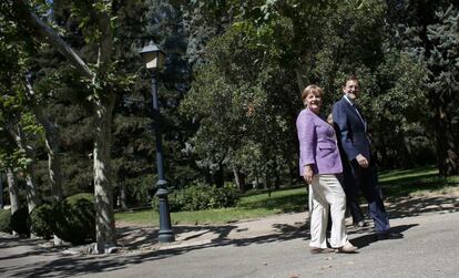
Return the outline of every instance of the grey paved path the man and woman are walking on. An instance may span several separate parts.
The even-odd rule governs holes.
[[[177,227],[178,243],[166,246],[124,229],[124,240],[131,236],[136,248],[106,256],[62,255],[37,240],[2,237],[0,277],[459,277],[457,197],[400,199],[388,210],[405,238],[376,241],[370,229],[351,228],[360,248],[355,255],[310,255],[305,213]],[[262,228],[267,226],[271,233]]]

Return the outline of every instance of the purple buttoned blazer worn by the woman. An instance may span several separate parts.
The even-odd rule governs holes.
[[[310,164],[314,174],[339,174],[343,172],[341,158],[336,144],[335,131],[308,109],[296,119],[299,141],[299,175]]]

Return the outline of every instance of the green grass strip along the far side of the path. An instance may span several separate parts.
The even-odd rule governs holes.
[[[442,192],[458,184],[459,176],[440,177],[435,167],[379,173],[379,185],[389,199]],[[171,222],[173,225],[223,224],[275,214],[305,212],[306,208],[306,185],[302,185],[273,192],[271,197],[266,191],[249,192],[241,197],[236,207],[232,208],[171,213]],[[118,213],[115,219],[135,225],[159,225],[159,215],[152,209]]]

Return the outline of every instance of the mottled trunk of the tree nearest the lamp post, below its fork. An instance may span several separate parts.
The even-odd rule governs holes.
[[[111,184],[111,126],[114,106],[113,92],[105,92],[94,103],[94,197],[95,197],[95,236],[98,251],[103,254],[105,247],[116,244],[116,230],[113,214],[113,188]]]

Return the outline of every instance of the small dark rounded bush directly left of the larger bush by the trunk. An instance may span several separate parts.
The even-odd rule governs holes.
[[[30,213],[30,226],[32,233],[43,238],[52,238],[53,233],[53,207],[42,204]]]

